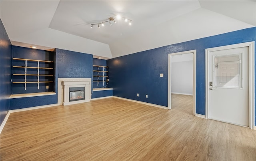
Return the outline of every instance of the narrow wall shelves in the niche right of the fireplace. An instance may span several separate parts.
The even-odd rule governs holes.
[[[93,80],[93,81],[97,82],[97,86],[99,86],[100,82],[103,82],[103,85],[105,85],[105,82],[108,82],[108,79],[107,79],[108,78],[108,76],[107,76],[108,67],[107,66],[96,66],[96,65],[93,65],[93,67],[96,68],[96,70],[92,70],[93,77],[97,78],[97,80]],[[97,75],[94,75],[94,74],[97,74]]]

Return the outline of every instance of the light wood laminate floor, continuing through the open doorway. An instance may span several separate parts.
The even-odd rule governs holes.
[[[1,161],[256,161],[256,131],[117,98],[11,113]]]

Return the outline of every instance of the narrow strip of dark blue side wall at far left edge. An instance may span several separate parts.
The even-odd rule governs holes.
[[[0,125],[10,108],[11,95],[11,42],[0,19]]]

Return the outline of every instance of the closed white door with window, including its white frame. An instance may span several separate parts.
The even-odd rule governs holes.
[[[209,118],[253,129],[254,42],[206,49]]]

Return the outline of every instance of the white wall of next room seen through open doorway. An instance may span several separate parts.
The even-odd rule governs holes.
[[[193,95],[193,54],[172,56],[172,93]]]

